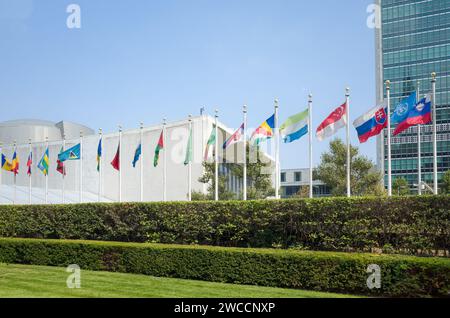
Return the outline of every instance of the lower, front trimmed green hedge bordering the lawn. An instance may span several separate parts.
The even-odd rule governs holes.
[[[0,262],[371,296],[448,297],[450,259],[182,245],[0,239]],[[381,267],[370,290],[369,264]]]

